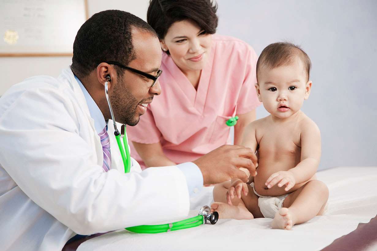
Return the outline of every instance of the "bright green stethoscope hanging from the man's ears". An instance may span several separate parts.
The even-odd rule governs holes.
[[[111,118],[113,120],[114,125],[114,135],[116,138],[116,142],[118,143],[119,151],[122,156],[123,165],[124,165],[124,173],[130,172],[131,168],[131,158],[130,158],[130,151],[128,149],[128,139],[127,139],[127,133],[126,133],[126,125],[122,125],[121,133],[118,131],[118,128],[116,128],[115,124],[115,118],[113,109],[111,107],[110,99],[109,99],[109,93],[107,89],[108,81],[110,80],[110,76],[107,76],[107,81],[105,82],[105,94],[107,99],[107,104],[109,105]],[[236,121],[237,122],[237,121]],[[121,138],[123,138],[123,145],[121,143]],[[124,148],[123,148],[124,146]],[[179,229],[185,229],[185,228],[191,228],[196,227],[201,224],[207,223],[209,220],[211,224],[215,224],[217,220],[219,219],[219,213],[213,212],[211,213],[211,209],[208,206],[203,206],[199,210],[198,216],[185,219],[182,221],[177,221],[169,224],[161,224],[161,225],[140,225],[135,227],[127,227],[126,230],[135,232],[135,233],[146,233],[146,234],[155,234],[155,233],[162,233],[162,232],[169,232],[169,231],[175,231]]]

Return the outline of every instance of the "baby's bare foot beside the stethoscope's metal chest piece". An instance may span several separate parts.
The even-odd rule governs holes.
[[[211,205],[211,211],[219,213],[219,219],[236,219],[236,220],[250,220],[254,219],[253,214],[242,206],[231,206],[222,202],[215,202]]]

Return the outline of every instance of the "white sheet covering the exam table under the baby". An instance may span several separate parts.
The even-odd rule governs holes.
[[[78,251],[87,250],[319,250],[350,233],[377,213],[377,166],[336,167],[317,173],[329,188],[329,207],[293,230],[270,228],[272,219],[220,219],[216,225],[201,225],[160,234],[136,234],[126,230],[87,240]],[[212,187],[192,199],[190,216],[212,201]]]

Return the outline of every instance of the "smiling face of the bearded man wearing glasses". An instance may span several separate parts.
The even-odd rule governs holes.
[[[161,47],[158,38],[149,32],[134,29],[132,41],[135,59],[128,66],[156,76],[161,66]],[[134,126],[139,117],[147,111],[147,105],[155,95],[161,93],[158,80],[153,87],[152,79],[124,69],[124,75],[117,78],[113,93],[110,97],[117,122]]]

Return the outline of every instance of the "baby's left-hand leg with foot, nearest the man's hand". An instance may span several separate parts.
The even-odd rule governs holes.
[[[241,199],[234,196],[232,206],[228,205],[226,193],[230,188],[230,181],[217,184],[213,189],[213,199],[216,201],[211,205],[211,211],[217,211],[219,218],[232,219],[253,219],[263,217],[258,207],[258,196],[253,192],[253,188],[248,186],[249,192],[245,196],[241,193]]]

